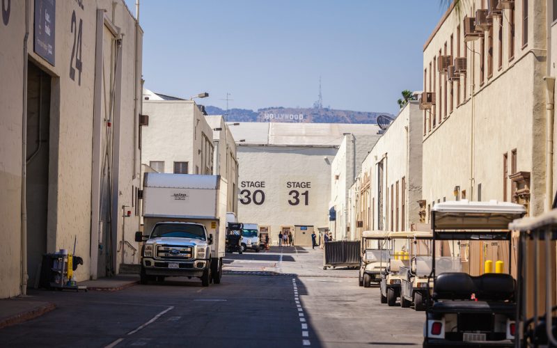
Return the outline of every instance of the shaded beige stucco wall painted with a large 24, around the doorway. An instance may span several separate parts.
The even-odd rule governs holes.
[[[59,248],[72,249],[77,237],[75,254],[84,259],[84,265],[77,269],[77,280],[89,278],[91,271],[91,186],[92,144],[93,144],[93,100],[95,81],[95,45],[97,8],[107,9],[107,18],[123,33],[122,39],[122,76],[121,104],[119,106],[121,124],[120,149],[123,157],[139,157],[137,133],[132,129],[136,118],[136,100],[134,86],[141,76],[136,76],[136,58],[141,64],[141,50],[135,55],[136,22],[125,7],[123,1],[97,0],[84,3],[81,8],[76,1],[57,1],[55,9],[56,26],[54,65],[33,52],[33,18],[34,1],[30,4],[30,35],[28,40],[29,60],[52,77],[49,110],[49,164],[48,164],[48,213],[47,213],[47,250],[54,252]],[[25,28],[24,1],[12,1],[7,23],[0,24],[0,39],[3,45],[0,54],[0,219],[3,230],[11,231],[0,246],[0,297],[19,294],[21,274],[20,247],[20,203],[21,203],[21,165],[22,165],[22,58]],[[72,16],[75,18],[72,31]],[[74,49],[74,34],[78,35],[81,23],[79,45],[81,71],[77,65]],[[141,31],[140,31],[141,33]],[[139,39],[141,43],[141,38]],[[70,67],[75,70],[70,77]],[[141,70],[140,70],[141,71]],[[115,125],[116,126],[116,125]],[[135,154],[135,156],[134,156]],[[118,158],[118,154],[116,155]],[[125,197],[130,197],[132,184],[139,184],[132,179],[137,176],[139,163],[120,163],[119,187]],[[124,197],[124,196],[123,196]],[[124,203],[117,198],[116,205]],[[134,219],[135,223],[138,221]],[[128,221],[130,226],[134,222]],[[96,241],[93,240],[93,243]],[[29,243],[33,243],[30,240]],[[36,264],[29,264],[36,268]],[[34,279],[29,280],[33,285]]]

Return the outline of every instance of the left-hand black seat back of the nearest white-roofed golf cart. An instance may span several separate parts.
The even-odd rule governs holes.
[[[462,272],[441,273],[435,280],[434,299],[469,300],[476,286],[469,274]]]

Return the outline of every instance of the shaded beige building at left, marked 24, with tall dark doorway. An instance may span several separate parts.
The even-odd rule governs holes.
[[[37,26],[33,24],[33,3],[12,1],[7,20],[0,23],[0,41],[3,45],[0,55],[0,75],[3,77],[0,83],[0,105],[3,110],[0,118],[0,194],[3,197],[0,203],[0,219],[3,221],[3,230],[12,231],[4,236],[0,246],[0,262],[3,264],[0,269],[0,298],[21,293],[20,206],[24,104],[30,105],[26,131],[29,137],[27,152],[35,153],[38,144],[42,144],[27,165],[28,178],[34,179],[33,175],[36,175],[40,179],[28,185],[27,198],[31,202],[31,205],[27,205],[27,250],[31,251],[27,258],[27,270],[31,276],[29,285],[35,283],[42,253],[54,252],[59,248],[72,250],[75,239],[75,254],[84,259],[84,265],[75,273],[77,280],[86,280],[100,273],[97,272],[100,268],[97,264],[97,253],[102,241],[97,235],[97,228],[92,228],[96,224],[91,223],[91,212],[98,212],[100,203],[100,199],[95,199],[93,194],[100,182],[94,163],[95,153],[99,149],[95,150],[94,144],[95,140],[100,139],[100,131],[106,130],[107,125],[97,122],[97,116],[100,114],[95,114],[95,97],[99,100],[102,94],[102,90],[95,89],[95,77],[102,76],[102,70],[98,68],[103,67],[95,66],[95,63],[110,61],[111,53],[104,51],[104,54],[99,56],[100,59],[95,61],[95,54],[101,52],[96,49],[97,39],[107,43],[109,48],[112,46],[113,53],[118,50],[116,45],[112,45],[112,41],[108,40],[108,29],[105,29],[105,26],[116,31],[117,36],[121,35],[118,36],[121,39],[119,59],[113,61],[113,65],[104,66],[107,76],[112,76],[116,81],[112,97],[114,112],[111,113],[111,132],[115,134],[114,139],[118,139],[118,146],[116,143],[111,146],[116,159],[111,163],[111,183],[118,186],[122,192],[121,196],[107,198],[112,200],[115,206],[109,210],[113,214],[119,214],[121,209],[118,207],[121,205],[134,205],[134,187],[139,186],[138,115],[141,102],[137,90],[141,84],[141,28],[136,24],[124,1],[116,1],[114,6],[112,1],[90,1],[84,3],[83,7],[75,1],[57,1],[54,13],[51,14],[56,18],[56,24],[51,28],[55,38],[52,64],[33,50],[33,29]],[[22,98],[26,64],[22,56],[22,38],[26,31],[26,4],[29,5],[27,47],[29,61],[33,63],[29,68],[29,103],[25,103]],[[107,12],[104,18],[100,15],[100,22],[97,22],[97,10],[100,9]],[[97,23],[100,23],[102,29],[99,32]],[[38,93],[38,89],[35,88],[38,86],[37,79],[43,80],[43,93]],[[106,94],[109,95],[108,92]],[[40,111],[38,104],[43,106]],[[95,122],[98,127],[95,127]],[[38,129],[41,129],[40,132]],[[139,216],[132,214],[132,217],[126,219],[126,229],[135,230],[139,224]],[[121,239],[120,221],[115,220],[112,224],[115,244],[104,246],[104,251],[111,253],[113,264],[108,271],[103,265],[102,273],[117,271],[116,240]],[[91,251],[94,251],[92,258]]]

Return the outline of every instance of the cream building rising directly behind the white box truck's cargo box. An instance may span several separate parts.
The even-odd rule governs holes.
[[[141,161],[164,162],[161,173],[174,173],[175,162],[187,162],[187,174],[212,174],[213,130],[195,102],[144,100],[149,127],[143,129]]]

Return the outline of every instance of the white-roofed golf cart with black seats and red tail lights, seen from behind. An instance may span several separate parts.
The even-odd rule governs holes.
[[[524,206],[514,203],[437,203],[431,209],[433,230],[433,293],[429,296],[423,347],[512,347],[516,315],[515,279],[510,274],[471,276],[453,271],[460,258],[438,258],[437,242],[489,241],[508,243],[508,270],[512,246],[511,221],[524,216]],[[460,243],[459,243],[460,244]],[[471,260],[472,261],[472,260]],[[469,267],[472,269],[472,267]]]

